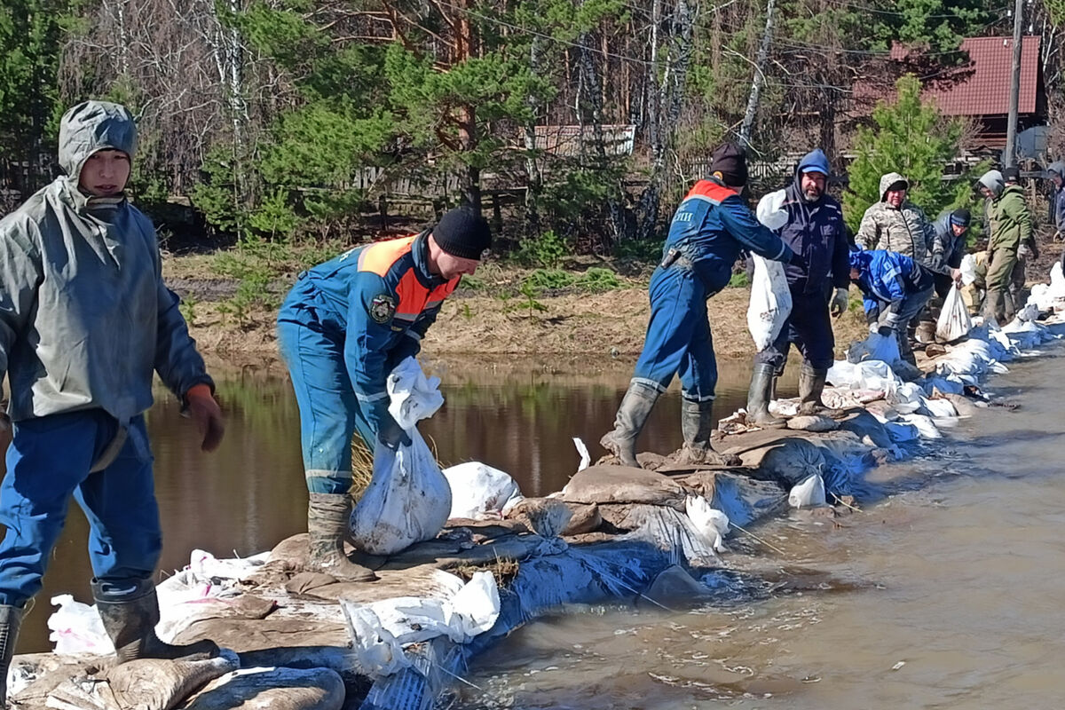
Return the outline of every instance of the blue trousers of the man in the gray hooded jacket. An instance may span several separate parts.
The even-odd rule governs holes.
[[[118,431],[103,410],[18,422],[0,484],[0,604],[23,607],[42,585],[72,495],[88,518],[88,556],[100,580],[148,579],[163,546],[144,417],[103,470],[88,469]]]

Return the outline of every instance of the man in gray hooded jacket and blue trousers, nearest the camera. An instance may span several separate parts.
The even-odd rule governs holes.
[[[124,106],[73,106],[60,125],[67,176],[0,220],[0,378],[13,429],[0,484],[0,677],[71,496],[88,519],[93,596],[119,662],[218,650],[166,644],[154,631],[162,535],[144,423],[152,373],[196,422],[202,449],[217,447],[223,423],[163,283],[154,228],[126,199],[135,149]]]

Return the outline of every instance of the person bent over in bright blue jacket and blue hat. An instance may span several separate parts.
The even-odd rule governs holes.
[[[850,266],[851,281],[865,296],[863,306],[869,331],[885,336],[895,334],[899,356],[916,365],[906,336],[906,324],[920,313],[932,296],[935,288],[932,271],[910,257],[880,249],[852,251]],[[956,269],[952,275],[955,279],[961,278]]]

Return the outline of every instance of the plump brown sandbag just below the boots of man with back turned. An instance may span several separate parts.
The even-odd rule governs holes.
[[[646,503],[684,512],[688,492],[668,476],[628,466],[589,466],[566,484],[566,502]]]

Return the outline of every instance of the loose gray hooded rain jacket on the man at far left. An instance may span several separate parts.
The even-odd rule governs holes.
[[[151,221],[125,198],[78,188],[88,158],[133,156],[136,127],[118,104],[87,101],[60,127],[56,178],[0,220],[0,380],[9,414],[103,409],[125,425],[152,402],[152,370],[179,397],[213,386],[163,284]]]

